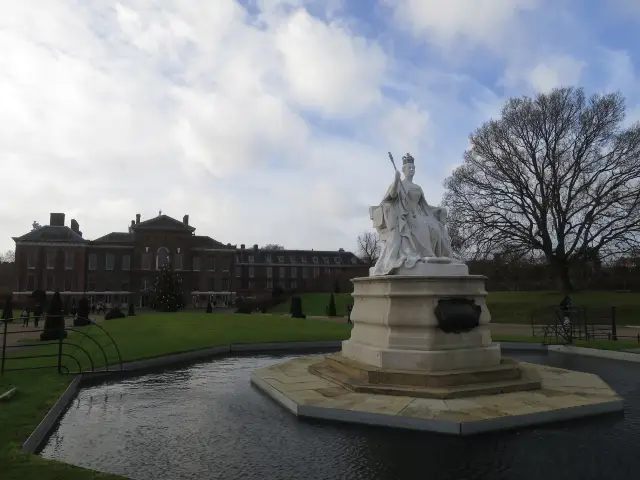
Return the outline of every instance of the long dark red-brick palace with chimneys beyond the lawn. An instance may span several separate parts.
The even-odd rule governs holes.
[[[157,270],[171,260],[193,306],[232,303],[237,296],[271,294],[276,287],[296,292],[351,291],[350,280],[368,270],[353,253],[315,250],[263,250],[254,245],[223,244],[196,235],[189,216],[176,220],[159,214],[131,220],[127,232],[95,240],[82,236],[76,220],[52,213],[49,225],[13,237],[16,243],[13,296],[20,301],[34,290],[60,290],[76,301],[146,307]],[[185,301],[188,301],[185,298]]]

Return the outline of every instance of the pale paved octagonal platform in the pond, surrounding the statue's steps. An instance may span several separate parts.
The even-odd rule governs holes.
[[[623,410],[598,376],[521,363],[541,389],[440,400],[355,393],[309,372],[323,356],[305,356],[256,370],[251,382],[299,417],[424,430],[452,435],[508,430]]]

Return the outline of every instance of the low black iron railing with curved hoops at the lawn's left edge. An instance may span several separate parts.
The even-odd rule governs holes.
[[[55,329],[52,333],[56,335],[52,335],[57,337],[55,340],[45,340],[45,341],[34,341],[34,342],[22,342],[20,344],[9,344],[8,340],[11,335],[23,334],[23,333],[42,333],[44,330],[40,329],[31,329],[31,330],[18,330],[18,331],[9,331],[9,324],[15,321],[16,324],[22,324],[22,318],[10,318],[10,319],[2,319],[0,320],[3,323],[3,328],[0,331],[2,335],[2,350],[0,357],[0,375],[4,374],[4,372],[11,371],[20,371],[20,370],[38,370],[38,369],[48,369],[55,368],[57,369],[59,374],[76,374],[76,373],[107,373],[113,372],[114,369],[112,367],[117,367],[116,369],[122,371],[122,356],[120,355],[120,349],[116,344],[113,337],[107,332],[104,328],[98,325],[93,320],[87,318],[82,319],[86,320],[87,325],[83,327],[62,327],[60,329]],[[84,323],[84,322],[83,322]],[[94,336],[90,335],[90,330],[93,328],[97,328],[100,330],[102,334],[104,334],[108,343],[106,345],[100,344]],[[72,335],[69,335],[72,333]],[[80,338],[78,338],[80,337]],[[102,365],[98,365],[98,359],[94,358],[91,353],[91,347],[84,344],[85,339],[89,342],[89,345],[95,345],[97,347],[97,351],[94,351],[94,355],[98,355],[103,360]],[[9,352],[11,349],[25,349],[28,350],[30,348],[38,348],[42,349],[47,345],[57,345],[57,349],[55,353],[42,353],[36,352],[33,355],[25,355],[18,352],[17,355],[11,355]],[[110,364],[109,357],[106,352],[106,348],[113,345],[115,349],[117,364]],[[67,348],[68,347],[68,348]],[[70,349],[74,349],[69,351]],[[46,352],[46,349],[45,349]],[[80,354],[80,355],[79,355]],[[86,357],[88,360],[88,368],[83,368],[83,360],[82,357]],[[8,364],[13,362],[20,362],[25,360],[32,359],[55,359],[55,362],[44,362],[43,364],[30,364],[28,366],[22,367],[8,367]],[[75,362],[75,366],[77,369],[74,369],[73,366],[69,368],[67,362],[64,360],[71,360]],[[111,368],[111,369],[110,369]]]

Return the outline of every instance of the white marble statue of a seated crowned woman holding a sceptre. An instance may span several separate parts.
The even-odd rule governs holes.
[[[454,258],[451,239],[445,227],[446,210],[431,207],[422,188],[413,183],[414,159],[402,157],[402,172],[387,190],[379,206],[370,207],[373,226],[383,246],[370,275],[443,274],[442,268],[425,268],[426,264],[453,264],[447,274],[468,274],[466,265]],[[418,267],[418,268],[416,268]]]

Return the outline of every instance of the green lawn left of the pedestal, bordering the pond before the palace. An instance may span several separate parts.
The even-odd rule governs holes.
[[[230,343],[263,343],[343,340],[349,337],[350,327],[345,324],[299,320],[268,315],[223,314],[148,314],[133,318],[109,320],[101,324],[114,338],[123,361],[156,357],[170,353],[198,350]],[[108,337],[95,326],[83,327],[101,345],[109,343]],[[69,342],[85,347],[100,361],[99,348],[83,335],[72,332]],[[55,353],[56,345],[29,347],[30,352]],[[65,345],[65,353],[79,355],[79,350]],[[106,348],[107,358],[117,358],[113,346]],[[22,355],[25,355],[23,352]],[[8,360],[7,368],[43,365],[55,358]],[[71,362],[67,360],[71,366]],[[88,360],[83,360],[83,366]],[[67,388],[71,376],[58,375],[52,370],[7,372],[0,377],[0,392],[18,387],[16,395],[6,403],[0,403],[0,477],[6,480],[80,480],[116,479],[91,470],[72,467],[37,455],[20,453],[22,443],[46,415],[58,397]]]

